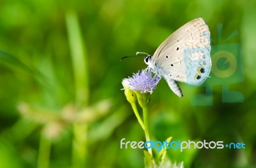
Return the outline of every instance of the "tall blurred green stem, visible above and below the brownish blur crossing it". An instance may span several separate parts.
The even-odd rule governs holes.
[[[80,109],[83,106],[88,106],[89,100],[86,48],[75,11],[67,12],[66,24],[76,87],[76,107]],[[73,125],[72,167],[86,167],[87,127],[87,123],[74,123]]]

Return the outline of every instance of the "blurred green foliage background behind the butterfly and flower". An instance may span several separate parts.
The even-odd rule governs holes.
[[[242,73],[229,89],[243,101],[223,102],[220,79],[203,87],[180,83],[181,99],[161,80],[152,94],[150,134],[158,141],[246,144],[168,150],[185,167],[256,167],[255,16],[256,1],[0,1],[0,167],[143,167],[143,150],[120,149],[122,138],[145,141],[120,89],[123,78],[146,66],[141,57],[120,58],[153,54],[198,17],[209,25],[212,45],[241,46]],[[238,36],[225,41],[234,31]],[[196,106],[205,86],[208,98],[196,102],[212,105]]]

